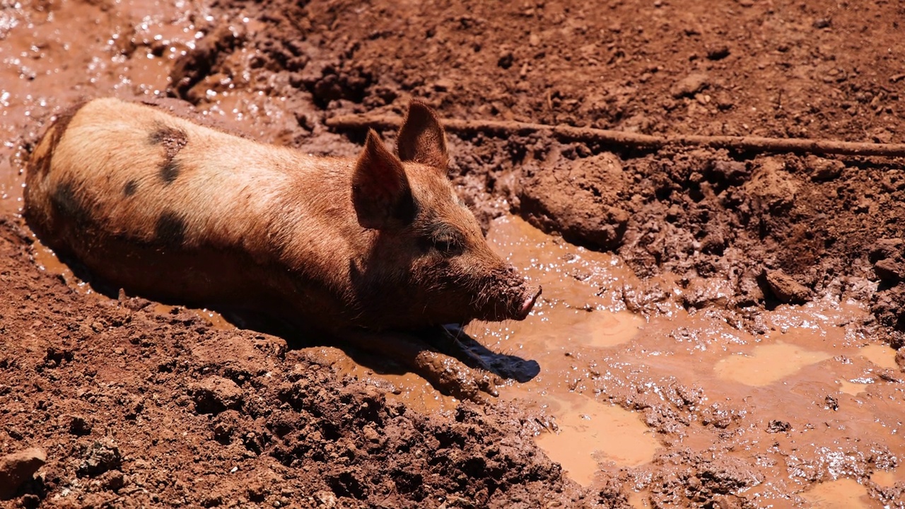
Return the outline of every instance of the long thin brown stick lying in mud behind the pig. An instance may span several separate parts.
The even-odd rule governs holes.
[[[396,129],[402,119],[391,115],[338,115],[327,119],[327,125],[340,129]],[[509,120],[443,120],[443,127],[458,132],[486,132],[500,136],[543,132],[558,139],[599,141],[612,145],[659,149],[670,145],[700,146],[713,149],[735,149],[753,152],[799,152],[807,154],[844,154],[849,156],[905,157],[903,143],[856,143],[830,139],[761,138],[757,136],[652,136],[619,130],[551,126]]]

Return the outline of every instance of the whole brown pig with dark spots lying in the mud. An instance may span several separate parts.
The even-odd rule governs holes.
[[[60,115],[33,149],[24,216],[92,280],[273,317],[474,398],[493,392],[492,378],[422,333],[524,320],[541,289],[492,251],[448,160],[443,127],[419,101],[395,154],[369,130],[357,158],[331,158],[102,98]]]

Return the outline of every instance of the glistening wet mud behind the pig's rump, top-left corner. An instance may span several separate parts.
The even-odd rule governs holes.
[[[33,4],[0,7],[2,213],[22,207],[24,144],[47,121],[98,95],[161,95],[176,58],[203,35],[183,0]]]

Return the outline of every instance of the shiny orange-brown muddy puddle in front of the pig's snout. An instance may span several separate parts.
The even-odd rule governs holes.
[[[861,307],[832,298],[780,306],[761,315],[767,332],[758,335],[719,313],[690,314],[677,298],[639,316],[626,311],[626,295],[653,287],[678,296],[681,287],[669,277],[644,286],[617,257],[567,245],[518,218],[494,223],[489,240],[544,295],[525,322],[472,323],[467,331],[491,351],[539,362],[535,379],[510,382],[500,397],[552,418],[556,426],[538,445],[580,484],[623,470],[643,488],[658,455],[676,447],[712,454],[727,435],[734,437],[722,454],[762,475],[748,490],[758,503],[872,507],[865,484],[900,478],[857,459],[876,450],[888,451],[886,459],[905,455],[903,390],[881,376],[901,378],[894,351],[858,333]],[[648,426],[666,412],[639,411],[638,395],[669,400],[674,387],[702,396],[691,422]],[[646,506],[645,495],[633,503]]]

